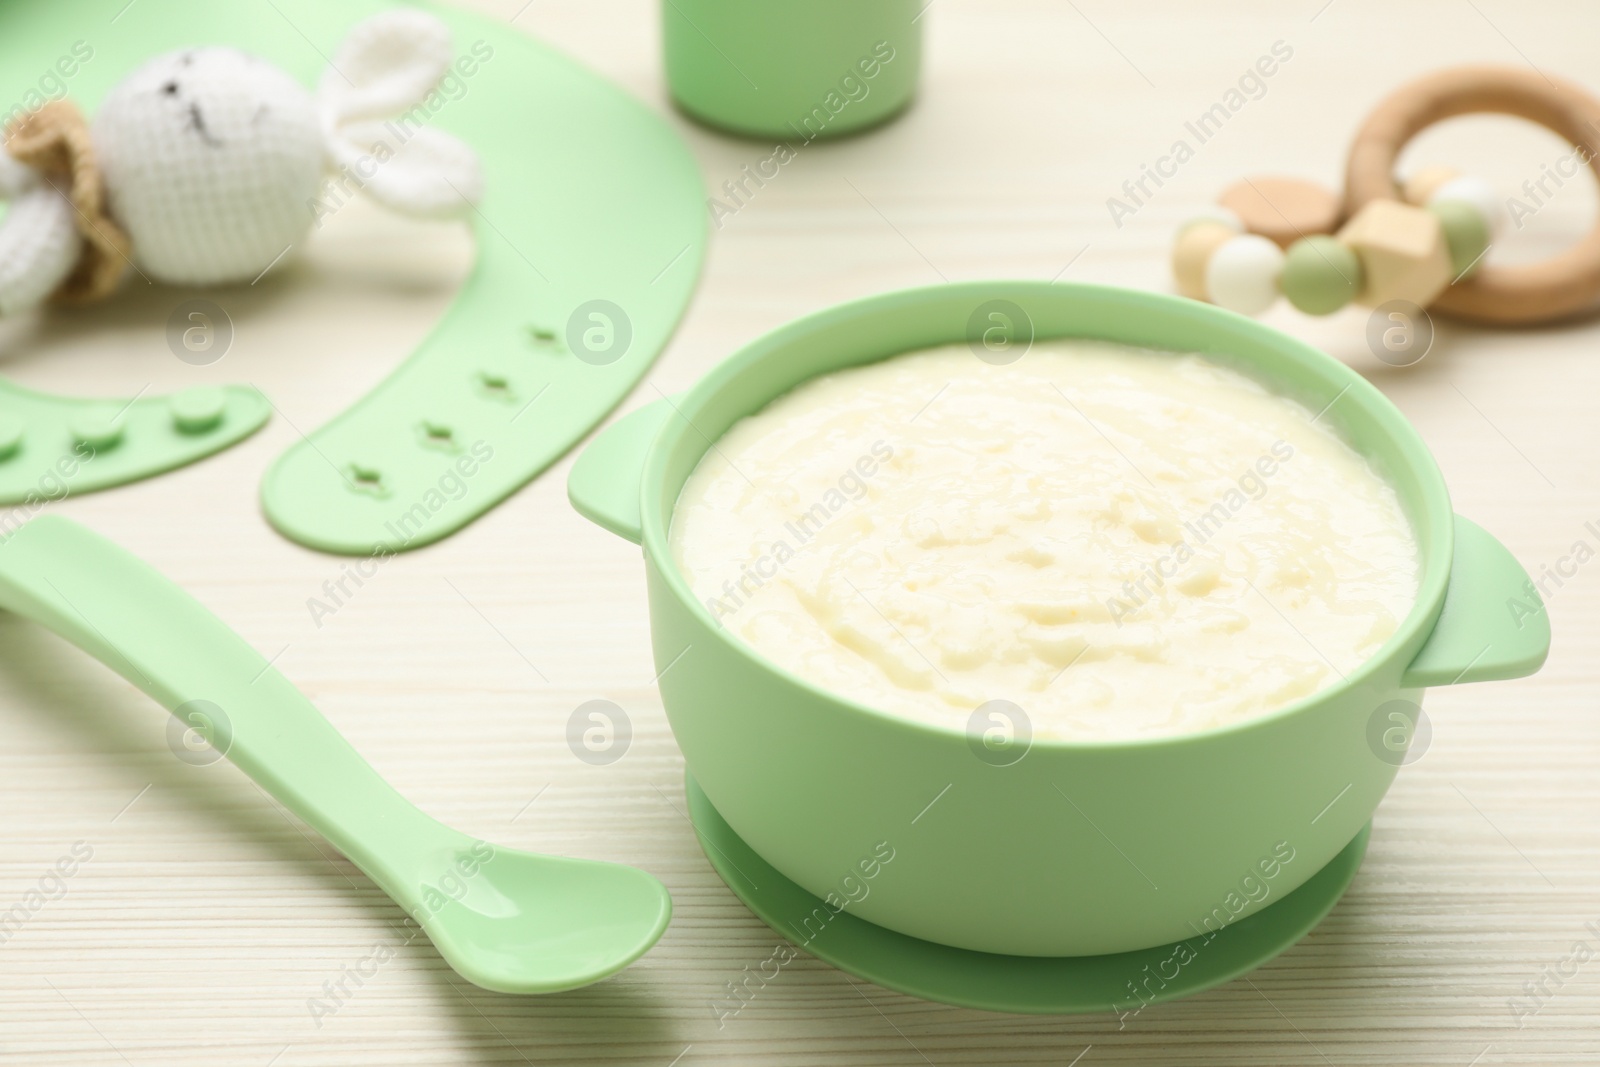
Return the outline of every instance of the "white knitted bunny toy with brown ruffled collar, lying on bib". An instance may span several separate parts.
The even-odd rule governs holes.
[[[32,138],[54,154],[22,152],[19,134],[37,131],[13,128],[10,154],[0,152],[0,197],[10,200],[0,222],[0,315],[56,291],[104,293],[130,243],[133,262],[157,282],[251,282],[326,211],[328,173],[403,214],[470,213],[483,187],[477,154],[424,125],[430,107],[418,107],[450,66],[450,30],[397,8],[346,37],[315,96],[254,56],[194,48],[128,75],[86,136],[51,130],[54,138]],[[77,115],[70,106],[66,114]],[[29,166],[16,154],[54,166]],[[109,219],[94,218],[98,182]],[[96,266],[90,259],[98,259],[98,280],[85,283]]]

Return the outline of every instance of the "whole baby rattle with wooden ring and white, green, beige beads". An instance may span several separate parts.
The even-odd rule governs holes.
[[[1485,262],[1506,224],[1494,189],[1427,166],[1403,186],[1400,150],[1454,115],[1499,112],[1536,122],[1574,146],[1574,178],[1600,174],[1600,101],[1571,82],[1510,67],[1458,67],[1397,90],[1350,146],[1346,190],[1258,178],[1230,187],[1173,246],[1184,296],[1256,315],[1285,296],[1310,315],[1354,302],[1406,301],[1482,323],[1536,323],[1600,306],[1600,226],[1531,266]],[[1562,179],[1558,178],[1558,181]]]

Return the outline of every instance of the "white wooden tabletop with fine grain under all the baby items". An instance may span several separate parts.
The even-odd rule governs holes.
[[[707,186],[771,152],[670,112],[651,0],[483,3],[667,114]],[[1600,10],[1578,0],[933,0],[925,24],[912,112],[803,149],[714,234],[696,302],[653,371],[661,389],[686,387],[795,315],[941,277],[1166,288],[1170,234],[1187,213],[1243,174],[1338,181],[1378,96],[1445,64],[1536,64],[1600,90]],[[1293,58],[1266,93],[1114,226],[1106,200],[1280,40]],[[1510,192],[1560,154],[1554,138],[1483,118],[1427,134],[1411,158]],[[1571,240],[1594,202],[1589,179],[1570,184],[1494,254]],[[166,350],[163,323],[184,294],[139,286],[72,317],[0,323],[0,373],[85,395],[264,389],[278,414],[243,446],[58,510],[275,656],[422,808],[510,846],[638,864],[672,889],[672,928],[619,977],[544,998],[469,987],[430,945],[410,944],[317,1025],[307,1001],[397,941],[400,912],[229,763],[173,758],[168,717],[130,685],[0,617],[0,909],[40,888],[75,843],[93,849],[0,945],[0,1062],[1600,1062],[1600,961],[1574,957],[1574,942],[1584,960],[1600,957],[1595,563],[1550,600],[1542,673],[1430,699],[1432,747],[1379,809],[1354,888],[1250,981],[1118,1030],[1109,1014],[930,1005],[802,958],[718,1027],[710,1001],[778,939],[712,873],[680,814],[683,766],[650,685],[638,550],[573,514],[571,461],[456,537],[384,563],[320,625],[307,600],[346,561],[290,544],[258,512],[269,461],[410,350],[470,256],[462,230],[352,206],[282,274],[221,296],[237,339],[214,366]],[[1574,541],[1600,545],[1586,526],[1600,525],[1600,322],[1440,323],[1422,363],[1392,370],[1366,352],[1362,312],[1269,320],[1371,376],[1434,448],[1458,510],[1530,569]],[[642,387],[624,410],[653,395]],[[627,755],[603,768],[563,741],[568,713],[592,697],[616,701],[635,726]],[[1563,960],[1576,974],[1566,963],[1558,982],[1547,977]],[[1542,1006],[1518,1027],[1510,1001],[1531,1008],[1541,981]]]

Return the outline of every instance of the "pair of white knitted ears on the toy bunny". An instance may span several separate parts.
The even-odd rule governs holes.
[[[350,30],[317,88],[334,168],[402,214],[459,218],[483,192],[477,152],[426,125],[450,61],[445,24],[398,8]]]

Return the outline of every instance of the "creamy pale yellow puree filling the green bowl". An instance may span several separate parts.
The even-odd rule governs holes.
[[[1198,355],[965,346],[802,384],[678,498],[672,553],[731,633],[870,707],[1035,737],[1261,715],[1395,630],[1419,558],[1320,413]]]

